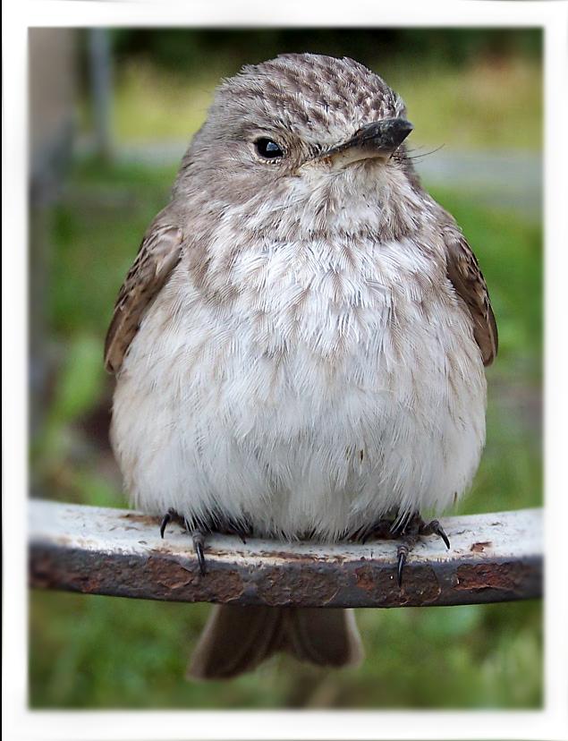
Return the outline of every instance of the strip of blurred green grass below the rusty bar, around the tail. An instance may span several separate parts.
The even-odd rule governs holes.
[[[31,595],[30,704],[69,709],[528,709],[542,702],[538,605],[358,610],[359,669],[284,656],[231,682],[183,679],[208,606]]]

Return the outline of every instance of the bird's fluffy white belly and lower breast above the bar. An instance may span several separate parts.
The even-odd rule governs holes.
[[[181,269],[148,311],[114,396],[134,506],[333,539],[393,509],[451,504],[485,435],[467,311],[411,276],[338,298],[287,275],[224,308]]]

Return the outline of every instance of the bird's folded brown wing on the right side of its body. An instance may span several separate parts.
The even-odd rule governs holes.
[[[490,365],[497,354],[497,325],[485,278],[470,245],[460,232],[446,229],[444,239],[448,277],[470,310],[473,336],[481,350],[483,364]]]

